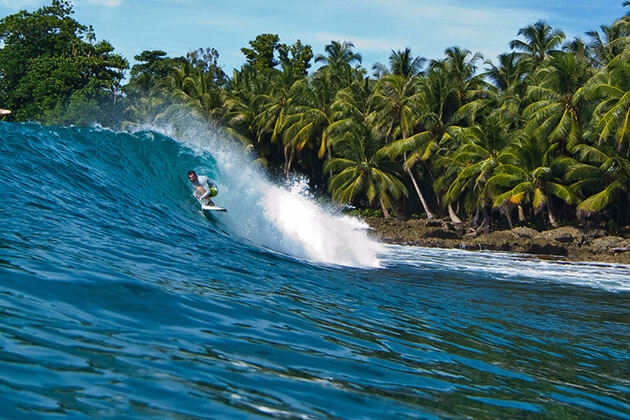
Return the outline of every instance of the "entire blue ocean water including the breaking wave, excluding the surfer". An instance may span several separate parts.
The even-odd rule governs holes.
[[[630,418],[630,267],[386,246],[236,150],[0,123],[1,418]]]

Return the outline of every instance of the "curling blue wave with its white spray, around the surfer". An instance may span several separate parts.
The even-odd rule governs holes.
[[[229,210],[211,220],[217,229],[208,233],[209,246],[219,235],[314,263],[380,264],[382,246],[368,238],[366,224],[316,203],[303,181],[274,184],[238,147],[201,126],[188,124],[177,135],[170,127],[115,132],[2,124],[0,130],[13,206],[98,215],[140,236],[164,231],[160,224],[186,230],[199,219],[186,178],[194,169],[216,181],[216,202]],[[143,218],[150,209],[163,217]]]

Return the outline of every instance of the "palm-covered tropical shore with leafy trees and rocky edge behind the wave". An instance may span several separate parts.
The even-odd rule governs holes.
[[[315,54],[260,34],[232,75],[212,47],[130,67],[72,14],[52,0],[0,20],[2,120],[192,117],[386,241],[630,264],[628,14],[573,40],[535,22],[494,62],[405,48],[363,67],[349,42]]]

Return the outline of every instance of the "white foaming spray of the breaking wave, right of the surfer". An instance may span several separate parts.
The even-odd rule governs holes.
[[[317,203],[306,181],[274,184],[242,146],[190,117],[177,126],[144,126],[174,138],[208,163],[191,168],[211,176],[219,187],[218,215],[232,232],[263,247],[315,263],[379,267],[381,243],[367,234],[365,222]],[[185,177],[186,174],[182,174]]]

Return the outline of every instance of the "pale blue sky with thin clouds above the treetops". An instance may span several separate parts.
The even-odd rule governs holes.
[[[133,65],[143,50],[169,56],[213,47],[231,75],[245,63],[242,47],[261,33],[309,44],[324,54],[331,40],[349,41],[370,70],[392,50],[440,59],[459,46],[484,58],[509,51],[519,28],[544,20],[568,39],[610,25],[630,8],[623,0],[73,0],[74,18],[92,25]],[[0,17],[34,11],[42,0],[0,0]]]

